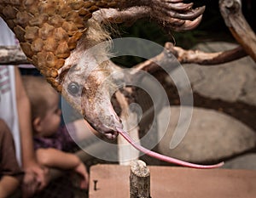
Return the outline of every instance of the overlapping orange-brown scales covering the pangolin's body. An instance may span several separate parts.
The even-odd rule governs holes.
[[[76,48],[92,13],[99,8],[115,8],[124,2],[3,0],[0,13],[15,32],[27,59],[61,92],[58,70]]]

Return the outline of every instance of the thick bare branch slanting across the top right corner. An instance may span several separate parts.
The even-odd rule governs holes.
[[[241,13],[241,1],[220,0],[220,12],[233,37],[256,62],[256,36]]]

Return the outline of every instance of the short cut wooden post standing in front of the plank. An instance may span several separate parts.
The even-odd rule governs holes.
[[[131,162],[130,198],[150,198],[150,172],[144,161]]]

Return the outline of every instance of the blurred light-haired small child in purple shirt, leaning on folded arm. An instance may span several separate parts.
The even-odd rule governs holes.
[[[80,187],[87,189],[88,173],[84,163],[78,156],[68,153],[74,145],[68,132],[77,132],[77,137],[84,135],[83,138],[86,138],[89,133],[80,132],[86,123],[78,120],[60,128],[59,94],[41,76],[23,76],[23,83],[32,105],[34,146],[39,164],[79,173],[82,177]],[[70,130],[67,131],[67,128]]]

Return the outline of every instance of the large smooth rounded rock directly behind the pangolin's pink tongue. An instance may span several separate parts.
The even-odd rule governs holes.
[[[190,107],[183,108],[191,110]],[[169,110],[171,122],[166,130],[162,123],[166,122]],[[161,110],[157,117],[159,137],[163,137],[159,140],[158,149],[166,156],[193,162],[218,161],[255,147],[256,135],[246,125],[216,110],[194,108],[189,130],[177,147],[170,149],[179,115],[180,107],[172,106]]]

